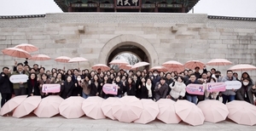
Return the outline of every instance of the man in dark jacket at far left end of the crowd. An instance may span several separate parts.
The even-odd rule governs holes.
[[[9,68],[8,67],[3,67],[3,72],[1,72],[0,76],[0,92],[2,95],[2,100],[1,100],[1,106],[11,99],[12,97],[12,92],[13,92],[13,86],[12,83],[9,81]]]

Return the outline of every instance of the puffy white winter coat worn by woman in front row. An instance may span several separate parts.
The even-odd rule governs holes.
[[[172,84],[174,85],[172,86]],[[170,95],[172,98],[177,99],[179,96],[184,97],[186,94],[186,85],[184,83],[173,82],[169,86],[172,88]]]

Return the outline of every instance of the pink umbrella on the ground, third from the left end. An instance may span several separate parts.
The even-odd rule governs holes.
[[[57,95],[50,95],[44,98],[34,111],[38,117],[54,117],[59,114],[59,106],[63,99]]]

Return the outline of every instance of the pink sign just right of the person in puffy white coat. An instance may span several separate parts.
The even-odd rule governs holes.
[[[190,83],[187,88],[186,91],[189,94],[198,94],[198,95],[204,95],[204,86],[202,84],[194,84],[194,83]]]

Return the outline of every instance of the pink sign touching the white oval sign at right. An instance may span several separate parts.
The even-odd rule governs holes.
[[[225,91],[226,84],[225,83],[207,83],[207,92],[219,92]]]

